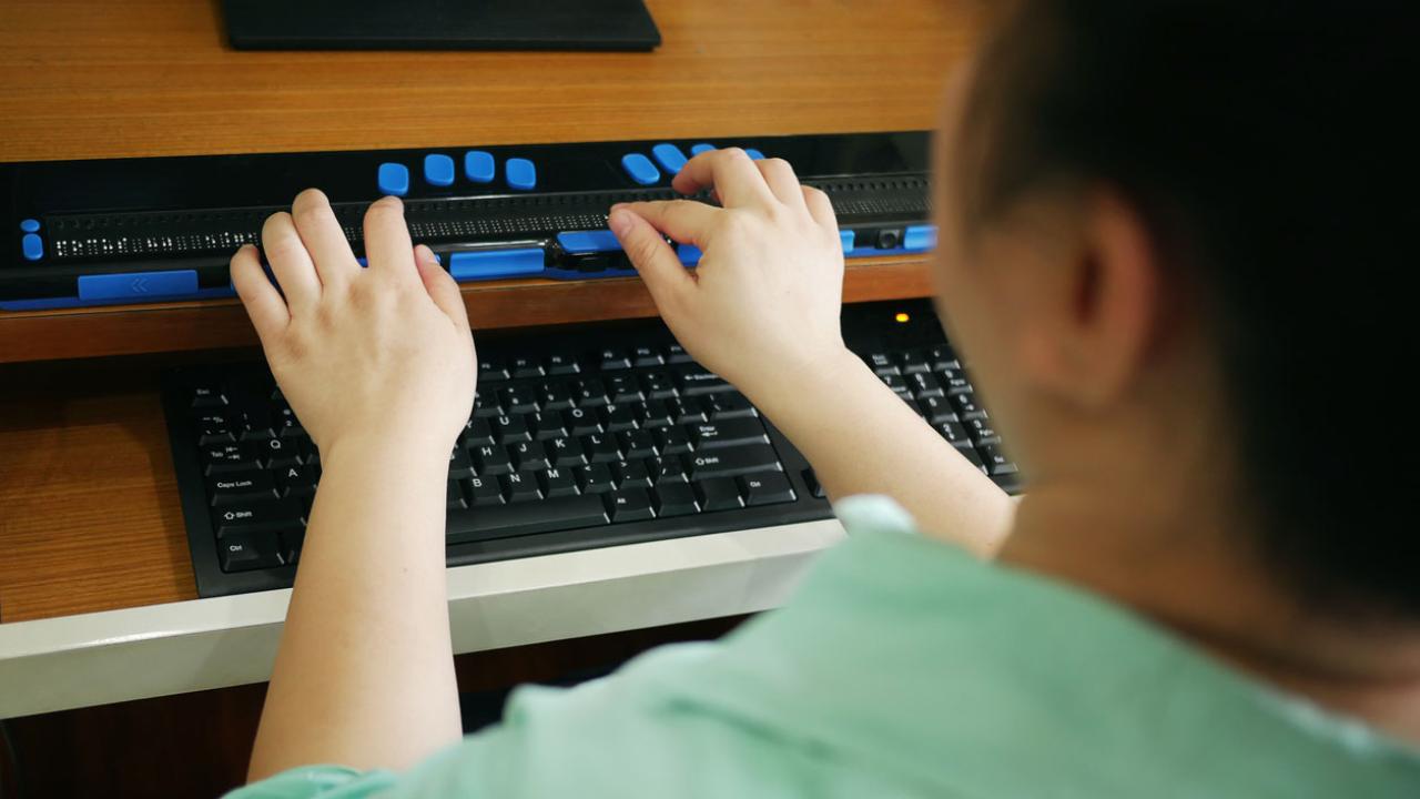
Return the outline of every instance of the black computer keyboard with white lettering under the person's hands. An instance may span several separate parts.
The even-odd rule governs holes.
[[[1020,489],[929,301],[846,306],[843,337]],[[199,593],[291,586],[321,459],[270,371],[175,370],[163,404]],[[662,323],[480,336],[473,417],[449,458],[450,566],[829,515],[804,456]]]

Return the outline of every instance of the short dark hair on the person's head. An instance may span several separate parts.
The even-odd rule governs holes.
[[[1024,0],[977,64],[954,191],[968,235],[1048,182],[1130,202],[1203,299],[1244,543],[1304,600],[1420,618],[1411,7]]]

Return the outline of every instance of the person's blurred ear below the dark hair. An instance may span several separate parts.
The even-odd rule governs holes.
[[[1076,212],[1078,239],[1062,272],[1037,294],[1022,367],[1047,391],[1089,408],[1110,405],[1139,380],[1162,326],[1162,263],[1137,212],[1099,192]]]

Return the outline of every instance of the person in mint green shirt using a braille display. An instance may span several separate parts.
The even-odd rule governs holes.
[[[1420,796],[1404,14],[1024,0],[958,70],[933,276],[1020,502],[843,347],[834,212],[790,163],[714,151],[674,188],[719,205],[613,208],[849,535],[724,640],[523,688],[464,739],[469,320],[399,200],[362,270],[304,192],[263,230],[284,297],[253,247],[231,266],[324,463],[231,796]]]

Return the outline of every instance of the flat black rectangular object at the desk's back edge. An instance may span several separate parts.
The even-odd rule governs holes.
[[[223,0],[237,50],[652,50],[642,0]]]

